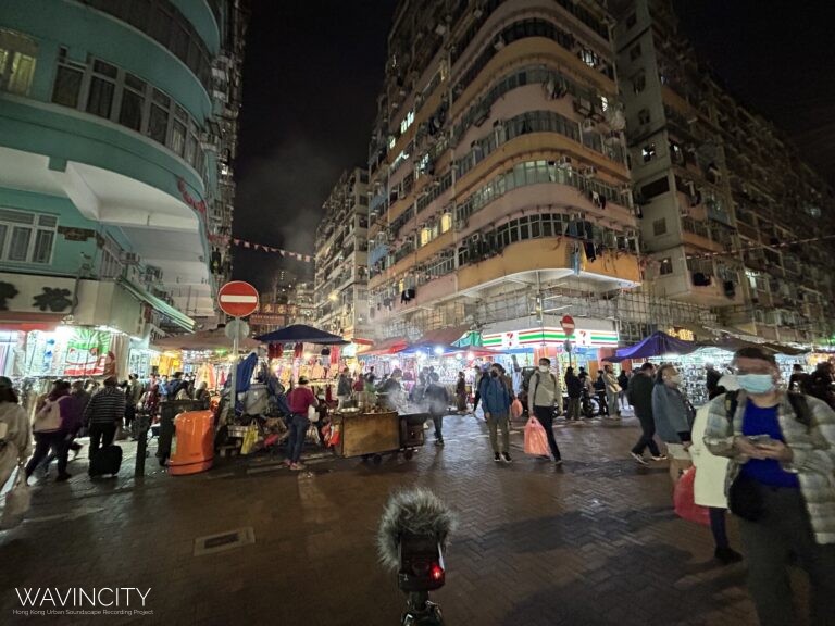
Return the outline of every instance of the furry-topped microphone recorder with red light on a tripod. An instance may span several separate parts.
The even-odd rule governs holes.
[[[454,514],[428,489],[408,489],[388,499],[377,529],[377,552],[385,567],[397,571],[398,586],[408,594],[403,626],[444,624],[429,591],[444,586],[444,552],[456,524]]]

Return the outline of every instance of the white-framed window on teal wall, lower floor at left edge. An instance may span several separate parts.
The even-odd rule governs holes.
[[[0,259],[50,263],[57,228],[54,215],[0,209]]]

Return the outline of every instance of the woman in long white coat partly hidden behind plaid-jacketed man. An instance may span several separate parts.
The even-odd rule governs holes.
[[[720,387],[727,391],[739,389],[734,376],[725,375],[719,381]],[[725,475],[730,459],[715,456],[705,446],[705,429],[708,425],[708,404],[699,408],[696,420],[693,423],[693,446],[689,452],[693,464],[696,466],[696,481],[694,485],[696,504],[707,506],[710,510],[710,529],[716,543],[715,558],[728,565],[741,561],[743,556],[731,548],[727,541],[725,517],[727,513],[727,498],[725,497]]]

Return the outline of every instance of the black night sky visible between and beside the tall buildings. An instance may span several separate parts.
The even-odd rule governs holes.
[[[674,3],[683,30],[732,93],[784,128],[835,183],[835,3]],[[322,202],[344,170],[366,162],[397,0],[252,4],[234,233],[312,254]],[[235,251],[236,278],[261,289],[279,264],[306,265]]]

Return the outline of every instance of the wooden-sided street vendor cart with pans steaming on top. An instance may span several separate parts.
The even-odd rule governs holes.
[[[346,459],[362,456],[375,465],[383,461],[383,454],[400,452],[411,459],[414,450],[423,446],[423,424],[427,413],[398,415],[396,411],[364,412],[344,410],[331,416],[332,428],[339,428],[339,442],[334,452]]]

